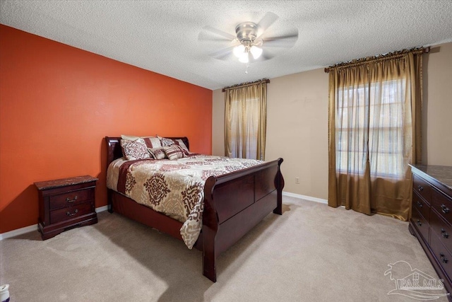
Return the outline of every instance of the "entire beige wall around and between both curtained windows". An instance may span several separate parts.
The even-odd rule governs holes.
[[[452,165],[452,43],[432,47],[426,57],[424,158]],[[213,91],[215,155],[224,155],[224,98],[221,89]],[[316,69],[270,79],[267,109],[266,160],[284,158],[284,191],[327,199],[328,74]]]

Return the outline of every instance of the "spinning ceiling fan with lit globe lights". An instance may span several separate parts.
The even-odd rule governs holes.
[[[205,26],[198,40],[215,59],[230,61],[235,58],[246,64],[271,59],[280,50],[293,47],[298,39],[297,28],[270,28],[278,18],[275,13],[268,12],[258,23],[239,23],[235,35]]]

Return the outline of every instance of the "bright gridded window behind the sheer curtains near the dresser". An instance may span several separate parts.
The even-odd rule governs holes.
[[[367,158],[371,175],[403,178],[405,80],[338,89],[336,169],[363,174]],[[369,156],[368,156],[369,155]]]

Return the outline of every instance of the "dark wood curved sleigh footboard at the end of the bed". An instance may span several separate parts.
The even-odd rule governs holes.
[[[271,211],[283,214],[283,158],[219,177],[204,187],[203,274],[216,281],[215,260]]]

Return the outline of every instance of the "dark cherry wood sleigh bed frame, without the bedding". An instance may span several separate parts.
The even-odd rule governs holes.
[[[189,147],[186,137],[182,139]],[[105,137],[107,141],[107,167],[123,156],[121,137]],[[203,226],[194,245],[203,251],[203,275],[215,282],[215,260],[271,211],[282,212],[284,187],[280,165],[283,158],[245,168],[218,177],[210,176],[204,186]],[[107,189],[108,211],[113,211],[141,222],[174,238],[182,240],[182,223],[134,202],[129,197]]]

